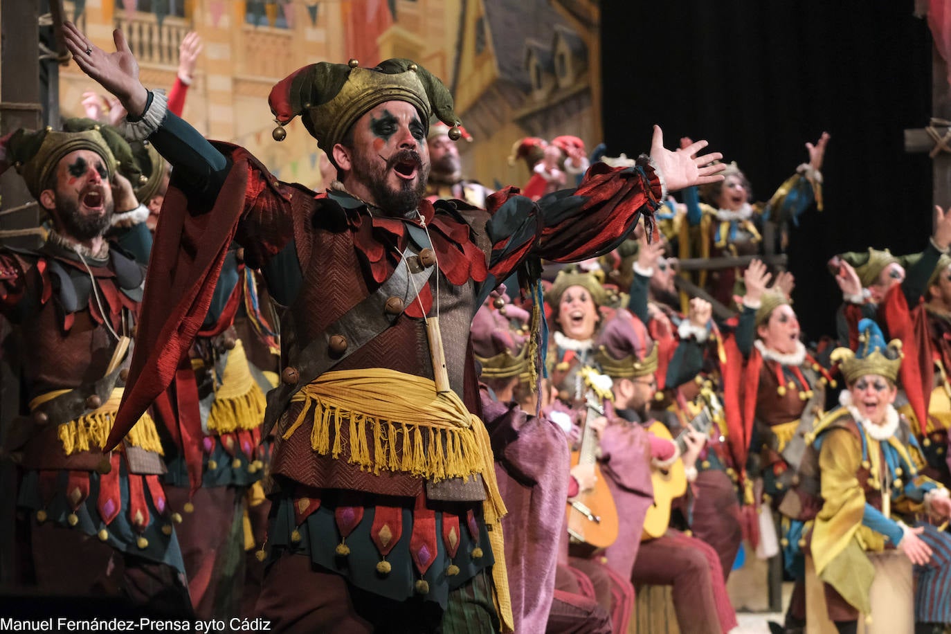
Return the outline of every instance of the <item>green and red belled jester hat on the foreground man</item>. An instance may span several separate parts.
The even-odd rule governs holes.
[[[449,89],[407,59],[389,59],[373,68],[361,68],[353,59],[347,64],[311,64],[278,82],[267,98],[278,124],[273,132],[275,141],[283,141],[287,136],[283,126],[301,115],[304,127],[331,163],[334,145],[350,127],[366,112],[389,101],[415,106],[427,132],[430,118],[436,116],[452,126],[450,139],[456,141],[462,134]]]

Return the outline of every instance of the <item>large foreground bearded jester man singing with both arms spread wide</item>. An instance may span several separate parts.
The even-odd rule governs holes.
[[[511,189],[488,211],[434,205],[425,138],[433,113],[458,123],[446,87],[409,60],[320,63],[269,100],[276,139],[300,115],[338,167],[335,187],[315,195],[168,113],[121,32],[111,54],[73,25],[65,33],[80,67],[126,106],[126,132],[174,165],[146,302],[165,309],[146,311],[140,332],[154,348],[133,360],[135,390],[109,441],[165,389],[237,240],[286,307],[265,416],[275,445],[262,616],[293,631],[510,628],[472,316],[528,259],[581,259],[622,240],[663,199],[660,174],[671,188],[718,178],[702,166],[716,155],[691,158],[702,143],[664,150],[658,128],[656,168],[645,157],[589,172],[558,197],[557,221]]]

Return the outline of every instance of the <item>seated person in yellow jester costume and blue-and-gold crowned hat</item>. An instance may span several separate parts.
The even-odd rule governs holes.
[[[922,474],[921,448],[893,406],[902,342],[885,345],[870,319],[860,323],[859,331],[859,350],[832,353],[848,389],[841,394],[842,407],[823,416],[808,434],[810,453],[804,458],[818,466],[820,483],[811,489],[822,491],[809,548],[816,574],[826,584],[828,617],[840,632],[855,632],[861,614],[873,610],[868,595],[876,569],[865,552],[897,548],[915,565],[915,631],[943,631],[951,623],[946,570],[951,538],[917,520],[945,521],[951,514],[948,490]],[[886,631],[908,627],[902,605],[881,612],[880,607],[875,606],[877,626]]]

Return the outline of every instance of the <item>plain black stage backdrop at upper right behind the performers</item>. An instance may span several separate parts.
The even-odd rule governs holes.
[[[931,162],[903,130],[931,113],[932,41],[911,0],[602,0],[609,153],[707,139],[767,201],[826,130],[825,211],[806,212],[787,250],[807,336],[834,333],[842,301],[825,261],[868,246],[921,251]]]

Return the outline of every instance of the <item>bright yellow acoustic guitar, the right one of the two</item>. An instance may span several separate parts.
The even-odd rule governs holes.
[[[707,435],[710,427],[713,426],[714,412],[719,410],[720,404],[712,391],[702,391],[701,397],[706,401],[704,408],[689,422],[687,429],[692,428],[703,435]],[[674,439],[670,435],[667,426],[655,420],[650,424],[648,432],[659,438],[673,441],[677,445],[679,454],[683,455],[687,451],[687,441],[684,439],[687,429],[680,432],[677,438]],[[647,516],[644,518],[642,541],[655,539],[667,532],[670,527],[670,505],[674,499],[687,492],[687,472],[684,469],[684,462],[680,458],[677,458],[666,469],[653,468],[651,471],[650,482],[653,484],[654,500],[648,509]]]

